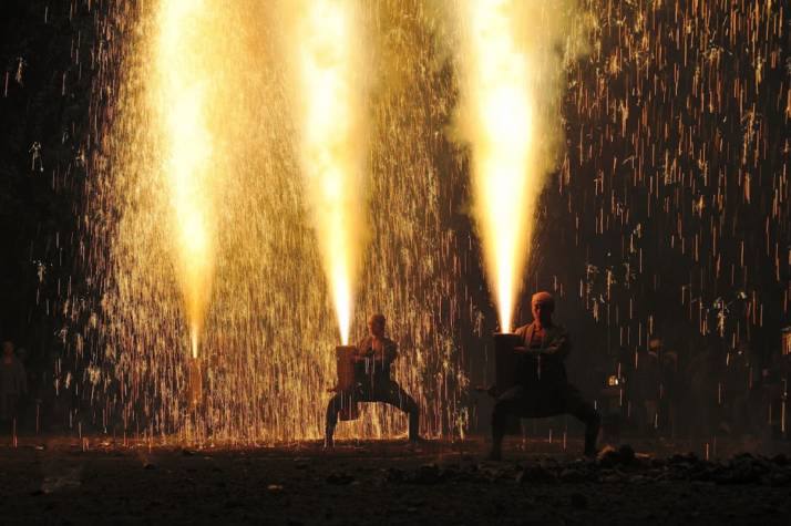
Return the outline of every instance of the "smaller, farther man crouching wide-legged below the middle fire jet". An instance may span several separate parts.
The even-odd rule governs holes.
[[[358,402],[384,402],[409,415],[409,440],[420,441],[418,426],[420,408],[415,401],[390,377],[390,365],[398,358],[398,345],[384,336],[383,314],[373,314],[368,320],[369,334],[357,344],[352,357],[355,384],[351,391],[336,389],[327,404],[325,447],[332,447],[332,435],[338,424],[338,413]]]

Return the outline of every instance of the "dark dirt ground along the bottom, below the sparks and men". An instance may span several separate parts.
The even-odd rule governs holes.
[[[0,448],[2,524],[789,524],[791,457],[708,462],[667,446],[343,443],[151,447],[20,440]],[[568,444],[569,451],[579,448]]]

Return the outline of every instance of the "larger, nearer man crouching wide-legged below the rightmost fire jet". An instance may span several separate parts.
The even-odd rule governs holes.
[[[552,321],[555,300],[548,292],[532,299],[533,323],[516,329],[523,347],[517,347],[517,384],[497,396],[492,413],[492,451],[490,458],[501,460],[508,419],[543,419],[572,414],[585,424],[585,455],[596,454],[600,416],[586,402],[579,390],[566,379],[564,360],[572,350],[568,333]]]

